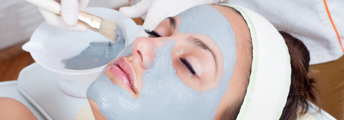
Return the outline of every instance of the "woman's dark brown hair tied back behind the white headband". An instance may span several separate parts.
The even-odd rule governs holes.
[[[308,110],[307,100],[319,106],[315,80],[307,75],[309,71],[309,51],[301,40],[287,32],[279,31],[288,46],[291,63],[291,83],[287,102],[280,119],[296,119],[298,106],[301,114]]]

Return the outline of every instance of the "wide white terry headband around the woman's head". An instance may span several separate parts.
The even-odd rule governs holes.
[[[279,119],[291,79],[290,55],[283,37],[258,13],[239,5],[220,5],[241,13],[252,38],[251,76],[237,119]]]

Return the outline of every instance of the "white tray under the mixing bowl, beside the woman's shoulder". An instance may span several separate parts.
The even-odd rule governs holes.
[[[18,77],[18,90],[47,118],[73,119],[74,115],[88,103],[87,98],[65,94],[56,84],[55,74],[33,63]]]

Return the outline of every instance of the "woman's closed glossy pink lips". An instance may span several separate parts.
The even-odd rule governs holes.
[[[134,74],[130,64],[123,58],[119,57],[113,61],[113,64],[108,67],[113,76],[119,82],[123,83],[125,87],[132,90],[136,94],[137,87],[134,79]],[[125,88],[124,88],[125,89]],[[130,92],[130,91],[128,91]]]

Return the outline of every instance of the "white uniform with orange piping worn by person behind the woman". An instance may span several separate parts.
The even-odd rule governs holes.
[[[252,9],[266,17],[278,30],[286,31],[302,40],[310,52],[310,64],[336,60],[344,53],[342,49],[344,0],[326,0],[326,5],[324,0],[227,0],[225,2]]]

